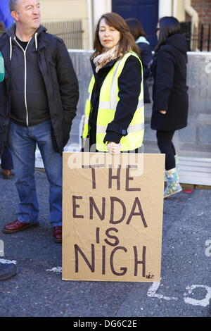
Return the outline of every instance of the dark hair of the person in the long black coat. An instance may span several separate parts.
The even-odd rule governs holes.
[[[165,16],[163,18],[160,18],[159,25],[160,25],[160,36],[158,39],[158,44],[155,47],[155,52],[158,51],[158,49],[160,49],[161,45],[165,44],[168,37],[171,37],[172,35],[181,32],[179,20],[177,20],[177,18],[174,18],[173,16]]]

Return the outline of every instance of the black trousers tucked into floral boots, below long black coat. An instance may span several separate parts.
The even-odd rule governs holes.
[[[170,170],[176,166],[174,158],[176,151],[172,143],[174,132],[158,130],[156,133],[160,153],[165,154],[165,170]]]

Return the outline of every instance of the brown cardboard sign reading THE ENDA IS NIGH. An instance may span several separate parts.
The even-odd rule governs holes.
[[[63,280],[160,281],[164,163],[63,153]]]

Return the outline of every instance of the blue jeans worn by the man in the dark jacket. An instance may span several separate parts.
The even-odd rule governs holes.
[[[34,180],[36,143],[49,180],[49,206],[51,226],[62,225],[62,156],[53,150],[51,121],[23,127],[11,122],[9,146],[13,156],[15,185],[20,204],[18,220],[38,223],[39,206]]]

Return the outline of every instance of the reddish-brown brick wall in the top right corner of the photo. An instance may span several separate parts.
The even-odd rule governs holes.
[[[203,25],[203,51],[207,51],[207,38],[209,24],[211,24],[211,0],[192,0],[191,4],[196,9],[199,15],[199,37],[201,32],[201,25]],[[211,45],[211,40],[210,40]],[[199,44],[200,46],[200,44]],[[210,48],[211,50],[211,48]]]

